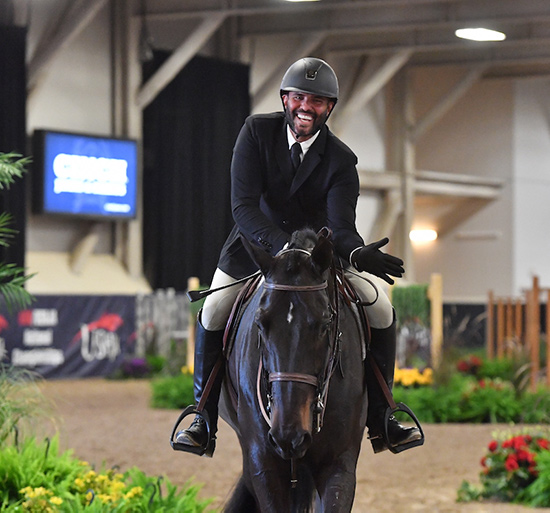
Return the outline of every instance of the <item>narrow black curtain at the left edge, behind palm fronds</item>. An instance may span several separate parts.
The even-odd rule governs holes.
[[[26,29],[0,25],[0,152],[26,156],[25,73]],[[10,246],[0,246],[0,261],[24,267],[26,202],[25,181],[16,179],[9,189],[0,189],[0,212],[9,212],[18,231]]]

